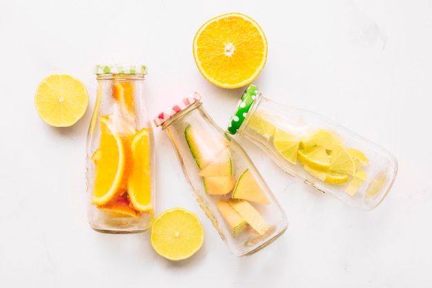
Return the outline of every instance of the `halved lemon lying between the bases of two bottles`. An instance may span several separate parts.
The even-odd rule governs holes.
[[[204,230],[194,213],[182,208],[168,209],[155,219],[150,242],[160,256],[184,260],[202,247]]]

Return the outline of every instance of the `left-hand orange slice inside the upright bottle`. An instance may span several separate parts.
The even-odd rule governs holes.
[[[112,133],[107,122],[107,117],[101,117],[101,140],[92,155],[96,165],[92,202],[98,206],[121,193],[126,162],[124,142],[118,133]]]

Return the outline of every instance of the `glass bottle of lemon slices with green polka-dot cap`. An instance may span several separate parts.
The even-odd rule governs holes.
[[[227,131],[264,148],[286,173],[361,209],[377,207],[397,174],[389,151],[322,115],[274,102],[254,85]]]

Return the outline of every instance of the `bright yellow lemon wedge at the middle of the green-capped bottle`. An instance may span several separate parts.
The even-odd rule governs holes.
[[[330,159],[326,153],[326,149],[322,146],[299,149],[297,151],[297,160],[311,169],[320,172],[327,172],[330,167]]]

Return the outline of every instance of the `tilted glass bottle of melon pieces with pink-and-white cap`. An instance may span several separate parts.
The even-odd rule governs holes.
[[[184,175],[228,249],[246,256],[287,229],[286,215],[251,159],[206,113],[198,93],[155,117]]]

